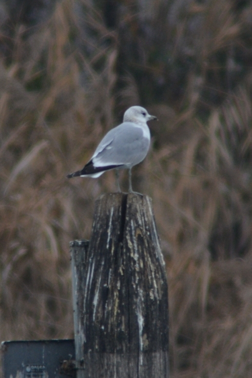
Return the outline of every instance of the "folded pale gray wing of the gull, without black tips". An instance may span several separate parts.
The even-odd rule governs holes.
[[[132,122],[124,122],[104,136],[91,161],[95,167],[133,166],[145,158],[149,144],[149,138],[144,136],[141,127]]]

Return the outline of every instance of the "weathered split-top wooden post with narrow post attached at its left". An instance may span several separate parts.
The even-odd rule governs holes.
[[[168,290],[150,198],[102,195],[89,247],[71,242],[71,254],[77,378],[167,378]]]

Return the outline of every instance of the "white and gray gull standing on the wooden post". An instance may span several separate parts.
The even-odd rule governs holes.
[[[105,171],[116,169],[129,170],[129,192],[133,193],[131,168],[141,163],[150,146],[150,131],[147,121],[157,120],[141,106],[131,106],[124,113],[123,123],[111,129],[102,139],[89,162],[80,171],[67,177],[99,177]],[[118,187],[120,190],[119,182]],[[121,190],[120,190],[121,191]]]

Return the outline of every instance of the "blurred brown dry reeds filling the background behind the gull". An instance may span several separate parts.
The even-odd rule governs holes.
[[[142,105],[171,377],[250,378],[252,3],[1,0],[0,28],[1,340],[73,336],[69,241],[115,184],[65,176]]]

